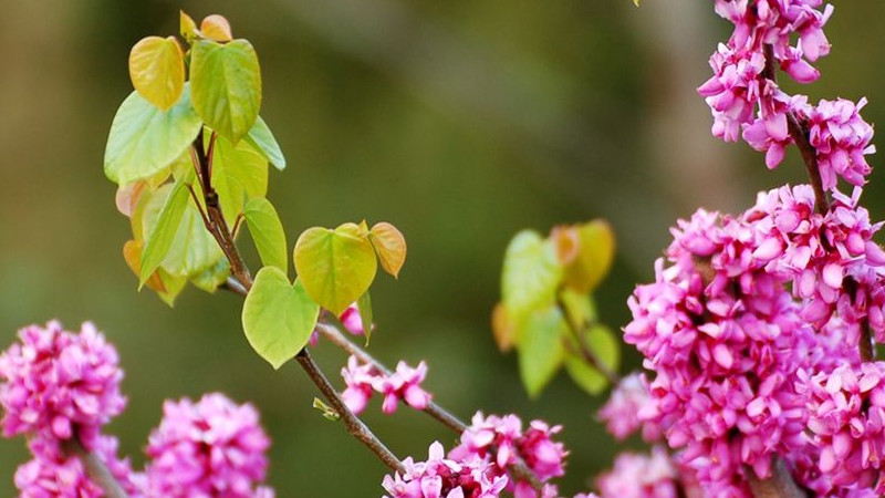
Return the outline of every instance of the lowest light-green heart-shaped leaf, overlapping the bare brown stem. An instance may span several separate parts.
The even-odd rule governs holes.
[[[320,307],[277,267],[258,271],[242,305],[242,330],[256,352],[279,369],[301,351],[316,324]]]

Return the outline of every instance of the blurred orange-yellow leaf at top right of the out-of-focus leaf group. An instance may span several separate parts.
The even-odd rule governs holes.
[[[598,287],[612,268],[615,238],[612,227],[603,220],[593,220],[576,228],[577,255],[565,267],[564,283],[571,289],[587,293]]]

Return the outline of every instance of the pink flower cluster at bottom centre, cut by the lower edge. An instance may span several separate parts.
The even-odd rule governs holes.
[[[414,464],[408,458],[406,474],[386,476],[384,488],[392,498],[486,498],[498,497],[506,489],[516,498],[558,498],[552,484],[545,484],[539,497],[528,483],[514,483],[508,474],[521,460],[542,483],[562,476],[568,453],[562,443],[551,438],[560,430],[560,426],[533,421],[523,432],[516,415],[485,417],[477,413],[448,458],[442,458],[442,446],[434,443],[426,463]]]

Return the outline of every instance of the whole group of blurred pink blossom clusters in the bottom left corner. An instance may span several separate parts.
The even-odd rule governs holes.
[[[80,333],[59,322],[31,325],[19,339],[0,355],[0,425],[4,437],[24,435],[33,455],[15,473],[21,496],[105,496],[81,458],[88,455],[133,498],[273,497],[260,485],[270,440],[251,405],[221,394],[166,402],[148,440],[150,460],[137,473],[117,457],[117,439],[102,434],[126,405],[114,346],[91,323]]]

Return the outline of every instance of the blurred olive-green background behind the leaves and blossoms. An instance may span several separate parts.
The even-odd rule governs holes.
[[[516,412],[565,425],[562,490],[585,489],[616,449],[594,421],[601,400],[561,376],[538,402],[516,359],[498,353],[489,312],[501,257],[522,228],[542,232],[596,217],[618,236],[600,290],[603,319],[627,318],[635,282],[652,278],[667,228],[696,207],[739,210],[754,193],[803,181],[791,153],[768,173],[743,144],[709,135],[694,87],[726,23],[701,0],[274,0],[267,2],[33,0],[0,13],[0,344],[58,318],[106,332],[122,355],[128,409],[108,432],[140,467],[164,398],[222,391],[261,411],[273,438],[280,497],[377,497],[385,468],[311,408],[316,392],[294,364],[273,372],[244,341],[235,295],[187,290],[175,309],[121,256],[127,220],[102,173],[107,129],[129,93],[129,48],[177,32],[178,9],[227,15],[258,49],[262,115],[289,159],[270,197],[290,234],[387,220],[409,242],[399,281],[373,288],[372,352],[424,359],[426,385],[464,418]],[[885,3],[836,2],[833,53],[812,98],[870,97],[885,120]],[[795,90],[791,86],[790,90]],[[879,164],[877,157],[871,163]],[[885,217],[885,178],[865,200]],[[253,260],[254,261],[254,260]],[[335,382],[344,355],[316,355]],[[638,364],[627,352],[625,370]],[[454,442],[408,408],[366,419],[400,456]],[[0,440],[0,496],[23,439]]]

